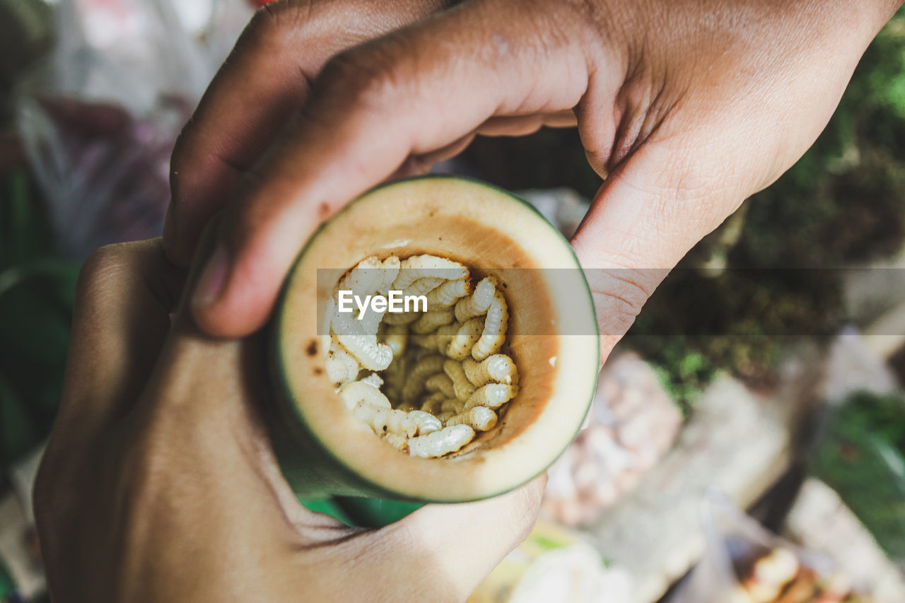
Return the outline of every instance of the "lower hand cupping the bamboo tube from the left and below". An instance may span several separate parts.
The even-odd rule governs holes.
[[[457,601],[528,534],[542,478],[381,530],[302,507],[259,415],[261,338],[211,339],[184,308],[171,328],[185,282],[159,240],[82,269],[34,488],[56,603]]]

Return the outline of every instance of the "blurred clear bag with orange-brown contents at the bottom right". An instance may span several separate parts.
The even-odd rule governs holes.
[[[832,563],[765,530],[720,493],[701,503],[707,549],[670,603],[867,603]]]

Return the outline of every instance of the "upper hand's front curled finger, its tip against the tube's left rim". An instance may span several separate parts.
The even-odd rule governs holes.
[[[495,2],[458,5],[331,61],[228,206],[195,291],[202,327],[223,336],[260,327],[319,222],[406,158],[493,116],[574,107],[586,90],[585,51],[561,29],[570,15],[551,21],[545,6],[526,5],[500,23]],[[584,26],[568,24],[573,32]]]

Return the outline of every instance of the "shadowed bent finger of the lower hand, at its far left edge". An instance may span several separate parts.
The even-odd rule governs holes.
[[[79,274],[55,429],[89,436],[128,412],[167,337],[184,282],[159,239],[90,255]]]

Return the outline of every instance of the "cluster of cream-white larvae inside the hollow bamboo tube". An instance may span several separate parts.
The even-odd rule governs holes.
[[[500,407],[518,393],[515,363],[500,353],[506,300],[492,276],[475,280],[461,263],[434,255],[369,257],[328,302],[329,379],[357,418],[409,455],[459,450],[495,426]],[[424,295],[427,311],[339,312],[340,291],[360,299]]]

